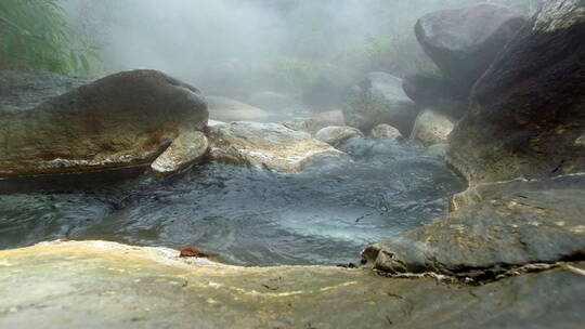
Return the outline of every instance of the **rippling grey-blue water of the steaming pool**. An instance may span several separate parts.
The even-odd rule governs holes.
[[[413,142],[353,139],[352,160],[300,173],[202,163],[0,181],[0,248],[56,238],[197,246],[240,265],[355,262],[368,244],[442,215],[461,182]]]

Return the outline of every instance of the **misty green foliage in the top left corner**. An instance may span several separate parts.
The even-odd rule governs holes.
[[[58,0],[0,1],[0,66],[89,74],[95,48],[69,28]]]

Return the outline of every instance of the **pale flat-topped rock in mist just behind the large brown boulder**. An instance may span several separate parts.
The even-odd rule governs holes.
[[[269,115],[263,109],[222,96],[205,96],[209,117],[217,121],[259,121]]]

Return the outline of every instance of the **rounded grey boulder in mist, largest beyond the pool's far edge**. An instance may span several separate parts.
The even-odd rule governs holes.
[[[418,107],[402,90],[402,80],[385,73],[372,73],[354,85],[343,106],[348,126],[368,132],[380,123],[391,124],[410,135]]]

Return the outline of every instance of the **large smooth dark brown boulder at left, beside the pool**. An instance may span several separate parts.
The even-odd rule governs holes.
[[[148,163],[203,130],[198,91],[154,70],[112,75],[34,108],[0,113],[0,176]]]

